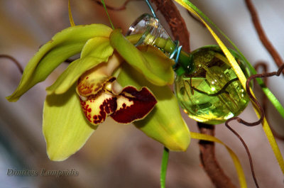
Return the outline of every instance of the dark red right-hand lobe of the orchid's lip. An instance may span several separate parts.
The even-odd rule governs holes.
[[[118,123],[131,123],[144,118],[157,103],[155,96],[146,87],[141,91],[135,87],[125,87],[116,102],[117,109],[111,118]]]

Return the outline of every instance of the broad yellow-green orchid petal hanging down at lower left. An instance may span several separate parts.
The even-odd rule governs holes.
[[[96,128],[84,118],[75,87],[65,94],[46,97],[43,107],[43,134],[50,160],[65,160],[76,153]]]

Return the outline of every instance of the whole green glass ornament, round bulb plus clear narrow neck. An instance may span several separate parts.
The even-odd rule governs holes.
[[[135,45],[153,45],[170,58],[178,48],[158,18],[149,14],[137,18],[126,35]],[[230,51],[249,77],[249,69],[241,57]],[[224,123],[238,116],[249,104],[248,94],[218,45],[191,53],[180,51],[176,62],[175,94],[190,118],[208,124]]]

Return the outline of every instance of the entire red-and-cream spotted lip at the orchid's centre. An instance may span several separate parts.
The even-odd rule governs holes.
[[[135,87],[117,88],[115,77],[97,76],[92,73],[84,74],[77,84],[77,93],[84,116],[94,126],[104,122],[111,116],[118,123],[131,123],[144,118],[157,103],[155,96],[146,88],[138,91]],[[116,84],[115,87],[112,85]]]

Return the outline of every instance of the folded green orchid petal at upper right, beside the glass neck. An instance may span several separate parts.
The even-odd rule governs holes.
[[[173,84],[173,60],[170,60],[163,52],[153,47],[143,48],[143,52],[140,52],[121,34],[119,29],[111,33],[110,41],[124,60],[141,72],[149,82],[158,86]]]

